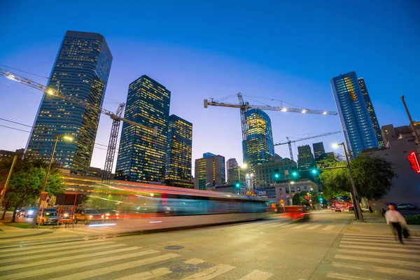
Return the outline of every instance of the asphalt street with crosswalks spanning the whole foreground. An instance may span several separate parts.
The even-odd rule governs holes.
[[[316,211],[305,223],[272,218],[60,243],[47,235],[0,245],[0,278],[420,279],[419,238],[402,245],[357,235],[347,230],[352,216]]]

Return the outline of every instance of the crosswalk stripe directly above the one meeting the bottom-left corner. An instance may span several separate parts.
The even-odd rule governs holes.
[[[95,253],[86,253],[86,254],[82,254],[82,255],[69,255],[66,257],[62,257],[62,258],[52,258],[52,259],[48,259],[48,260],[37,260],[34,262],[30,262],[30,263],[21,263],[18,265],[6,265],[3,267],[0,267],[0,271],[6,271],[6,270],[10,270],[10,269],[19,269],[19,268],[23,268],[23,267],[34,267],[37,265],[48,265],[54,262],[66,262],[68,260],[78,260],[80,258],[92,258],[92,257],[97,257],[99,255],[109,255],[111,253],[121,253],[121,252],[126,252],[126,251],[133,251],[133,250],[137,250],[137,249],[141,249],[143,247],[128,247],[128,248],[120,248],[120,249],[115,249],[115,250],[110,250],[110,251],[100,251],[100,252],[95,252]]]

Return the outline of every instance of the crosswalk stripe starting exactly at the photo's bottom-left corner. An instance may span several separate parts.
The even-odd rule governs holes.
[[[148,251],[141,251],[141,252],[137,252],[137,253],[130,253],[130,254],[127,254],[127,255],[115,255],[115,256],[112,256],[112,257],[108,257],[108,258],[99,258],[99,259],[85,260],[85,261],[82,261],[82,262],[74,262],[74,263],[71,263],[71,264],[68,264],[68,265],[54,265],[54,266],[48,267],[48,269],[45,269],[45,267],[43,267],[43,268],[40,268],[40,269],[34,269],[34,270],[26,271],[26,272],[3,275],[1,279],[2,280],[22,279],[22,278],[27,278],[27,277],[50,274],[50,273],[54,273],[54,272],[63,272],[64,270],[74,269],[75,267],[77,267],[77,268],[90,267],[92,265],[99,265],[99,264],[102,264],[104,262],[113,262],[113,261],[116,261],[116,260],[124,260],[125,258],[136,258],[136,257],[139,257],[141,255],[148,255],[148,254],[151,254],[151,253],[160,253],[160,252],[155,251],[155,250],[148,250]]]

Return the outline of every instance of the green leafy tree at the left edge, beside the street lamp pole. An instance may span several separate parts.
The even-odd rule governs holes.
[[[5,170],[10,169],[11,161],[1,160],[0,162],[0,181],[3,182]],[[43,180],[45,179],[48,164],[42,159],[31,158],[25,156],[19,158],[16,162],[15,169],[8,190],[4,197],[4,214],[10,207],[14,207],[12,222],[15,221],[16,209],[18,207],[34,204],[41,194]],[[62,193],[64,188],[63,179],[57,165],[52,165],[48,176],[45,191],[49,195]]]

